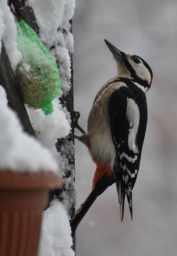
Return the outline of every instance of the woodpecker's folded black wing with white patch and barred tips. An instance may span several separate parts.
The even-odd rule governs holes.
[[[140,166],[147,125],[146,96],[142,92],[135,96],[132,89],[122,86],[110,96],[108,109],[112,140],[116,148],[113,170],[115,180],[118,172],[121,173],[121,178],[116,180],[116,188],[123,220],[125,195],[132,217],[132,188]]]

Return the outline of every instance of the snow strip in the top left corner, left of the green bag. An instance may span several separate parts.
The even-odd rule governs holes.
[[[16,43],[17,29],[14,22],[14,15],[10,12],[7,0],[1,0],[0,6],[0,52],[2,42],[4,42],[12,69],[15,70],[21,60],[21,53],[17,49]]]

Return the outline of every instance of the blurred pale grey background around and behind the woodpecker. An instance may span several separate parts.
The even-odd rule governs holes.
[[[153,70],[133,220],[126,201],[121,223],[116,187],[108,188],[77,228],[77,256],[176,256],[177,1],[76,0],[73,35],[75,110],[85,130],[94,96],[116,75],[104,38],[141,56]],[[91,190],[95,165],[77,141],[76,160],[79,207]]]

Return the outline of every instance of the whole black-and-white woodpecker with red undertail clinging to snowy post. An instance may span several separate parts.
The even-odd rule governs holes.
[[[76,128],[96,171],[92,191],[73,216],[70,225],[74,233],[94,200],[116,183],[121,221],[124,217],[125,196],[132,218],[132,189],[140,166],[142,146],[147,126],[145,93],[151,87],[152,70],[138,55],[125,54],[104,40],[116,61],[118,74],[108,80],[96,94],[88,116],[88,132],[80,128],[76,112]]]

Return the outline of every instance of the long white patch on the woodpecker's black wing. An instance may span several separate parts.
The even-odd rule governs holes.
[[[136,146],[136,135],[138,133],[138,127],[140,123],[140,111],[138,105],[134,100],[127,97],[127,109],[126,118],[129,122],[129,134],[128,134],[128,147],[134,153],[138,153],[138,146]]]

